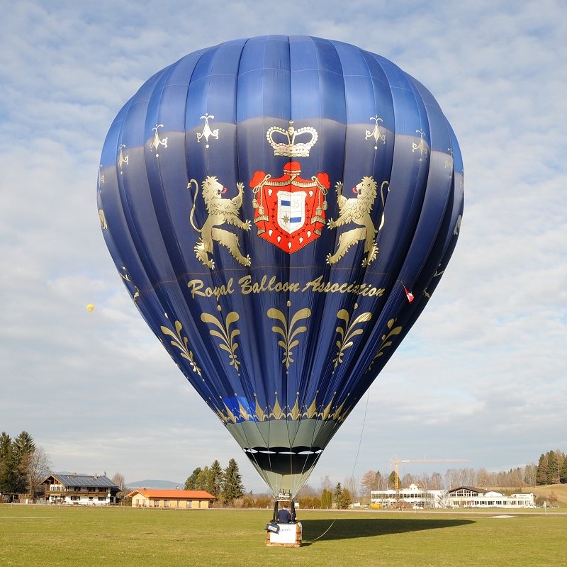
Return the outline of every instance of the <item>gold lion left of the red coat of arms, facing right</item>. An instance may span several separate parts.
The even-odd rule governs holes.
[[[223,187],[218,179],[214,176],[208,175],[203,181],[203,199],[205,200],[205,207],[208,212],[208,218],[202,228],[197,228],[195,223],[193,223],[193,214],[195,213],[195,203],[198,193],[198,183],[195,179],[191,179],[189,184],[187,184],[187,189],[195,184],[195,196],[193,197],[193,208],[191,209],[191,215],[189,215],[189,220],[193,228],[201,233],[201,238],[197,241],[194,248],[197,259],[199,259],[205,266],[209,266],[210,269],[215,268],[215,261],[209,259],[208,253],[213,253],[213,240],[216,240],[221,246],[228,248],[228,252],[232,257],[240,262],[243,266],[250,265],[250,257],[242,256],[239,249],[238,237],[233,232],[228,232],[228,230],[223,230],[222,228],[217,228],[224,223],[229,225],[235,225],[242,230],[250,230],[250,221],[242,221],[238,218],[240,213],[240,207],[242,207],[242,193],[244,192],[244,184],[237,183],[238,194],[232,199],[223,198],[221,195],[225,193],[226,187]]]

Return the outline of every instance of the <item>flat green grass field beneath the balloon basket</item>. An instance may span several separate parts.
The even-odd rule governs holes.
[[[567,515],[301,512],[299,549],[266,547],[269,510],[0,505],[1,566],[567,565]],[[327,534],[315,540],[335,524]]]

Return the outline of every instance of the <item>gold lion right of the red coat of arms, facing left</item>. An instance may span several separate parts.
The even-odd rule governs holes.
[[[374,238],[378,234],[378,231],[384,225],[384,186],[388,186],[388,181],[384,181],[381,188],[380,194],[382,197],[382,220],[378,230],[374,228],[374,223],[370,217],[370,211],[372,206],[374,206],[374,201],[376,200],[376,181],[372,177],[364,176],[362,181],[352,188],[354,193],[357,193],[356,197],[347,199],[342,196],[342,183],[339,181],[336,186],[337,191],[337,201],[339,203],[339,218],[337,220],[329,219],[329,228],[337,228],[337,226],[347,225],[348,223],[354,223],[356,225],[361,225],[361,228],[353,228],[352,230],[347,230],[339,236],[339,246],[335,254],[327,254],[327,264],[337,264],[339,259],[341,259],[344,254],[347,254],[348,249],[352,246],[364,240],[364,252],[367,252],[366,259],[362,261],[363,266],[368,266],[372,260],[376,258],[378,254],[378,245],[374,241]],[[388,186],[388,191],[389,191]]]

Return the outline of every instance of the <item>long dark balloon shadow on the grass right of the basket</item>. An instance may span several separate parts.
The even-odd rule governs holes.
[[[305,544],[323,539],[352,539],[355,537],[374,537],[388,534],[404,534],[420,532],[424,529],[442,529],[446,527],[466,526],[474,524],[473,520],[420,520],[418,518],[338,518],[332,520],[301,520],[303,525],[303,541]],[[332,524],[332,527],[330,527]],[[330,529],[329,529],[330,528]]]

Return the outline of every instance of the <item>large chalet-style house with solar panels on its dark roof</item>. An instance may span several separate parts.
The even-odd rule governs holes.
[[[116,504],[120,487],[106,476],[52,473],[42,483],[45,500],[57,504]]]

